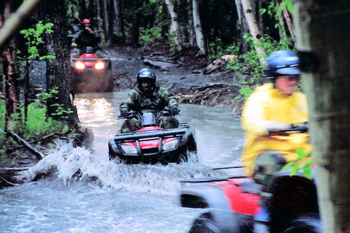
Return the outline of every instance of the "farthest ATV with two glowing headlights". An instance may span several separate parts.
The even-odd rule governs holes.
[[[74,93],[113,91],[111,61],[108,54],[103,52],[104,57],[98,57],[94,48],[87,47],[85,52],[77,57],[78,51],[77,49],[70,51]]]

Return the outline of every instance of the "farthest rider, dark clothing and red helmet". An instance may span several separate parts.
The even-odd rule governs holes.
[[[90,19],[86,18],[83,20],[83,27],[77,34],[77,38],[74,38],[71,44],[73,47],[78,47],[79,49],[79,52],[77,52],[75,56],[81,56],[87,47],[92,47],[95,50],[94,53],[98,57],[104,57],[104,54],[98,50],[101,36],[92,31]]]

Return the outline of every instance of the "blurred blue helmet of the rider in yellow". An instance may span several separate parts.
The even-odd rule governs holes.
[[[270,54],[267,58],[266,78],[280,75],[300,74],[298,57],[289,50],[280,50]]]

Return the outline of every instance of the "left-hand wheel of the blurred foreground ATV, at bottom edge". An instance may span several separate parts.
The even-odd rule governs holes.
[[[194,220],[189,233],[220,233],[210,213],[204,213]]]

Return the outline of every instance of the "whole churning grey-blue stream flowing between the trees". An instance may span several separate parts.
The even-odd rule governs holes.
[[[178,119],[195,129],[198,163],[124,165],[109,161],[107,142],[121,127],[125,92],[76,97],[92,149],[58,141],[27,176],[42,179],[0,190],[0,233],[186,233],[203,209],[179,204],[180,179],[215,175],[242,151],[240,119],[231,108],[180,104]]]

